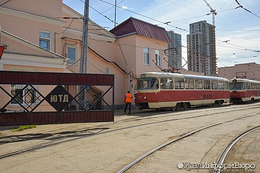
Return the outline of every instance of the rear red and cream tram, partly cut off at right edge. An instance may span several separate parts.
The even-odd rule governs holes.
[[[229,80],[230,102],[253,102],[260,99],[260,82],[248,79]]]

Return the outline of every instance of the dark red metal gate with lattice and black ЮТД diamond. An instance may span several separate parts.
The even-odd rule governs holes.
[[[112,121],[114,75],[0,71],[0,126]]]

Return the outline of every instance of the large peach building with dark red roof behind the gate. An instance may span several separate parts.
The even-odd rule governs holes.
[[[39,6],[41,10],[38,10]],[[62,0],[18,0],[3,4],[0,6],[0,44],[7,45],[7,48],[0,60],[0,70],[79,73],[82,17]],[[127,90],[132,93],[137,74],[167,68],[161,56],[168,45],[165,29],[138,19],[129,20],[148,26],[148,29],[155,27],[159,37],[144,35],[144,28],[140,33],[116,36],[89,21],[87,73],[115,75],[115,108],[124,105]],[[124,22],[120,25],[122,27]],[[13,89],[15,93],[19,88]],[[76,93],[77,87],[67,89]],[[100,93],[106,91],[98,86],[95,89]],[[0,94],[3,98],[1,107],[9,97]],[[111,94],[112,91],[106,97],[110,98]],[[16,106],[10,104],[11,108]],[[47,108],[43,104],[37,109]]]

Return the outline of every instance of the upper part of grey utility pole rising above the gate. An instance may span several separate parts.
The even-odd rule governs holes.
[[[89,13],[89,0],[85,0],[79,73],[87,73],[88,13]]]

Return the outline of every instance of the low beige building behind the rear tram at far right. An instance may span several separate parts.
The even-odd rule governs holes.
[[[260,81],[260,64],[252,62],[236,64],[231,67],[219,67],[218,77],[226,78],[228,80],[233,78],[244,78]]]

